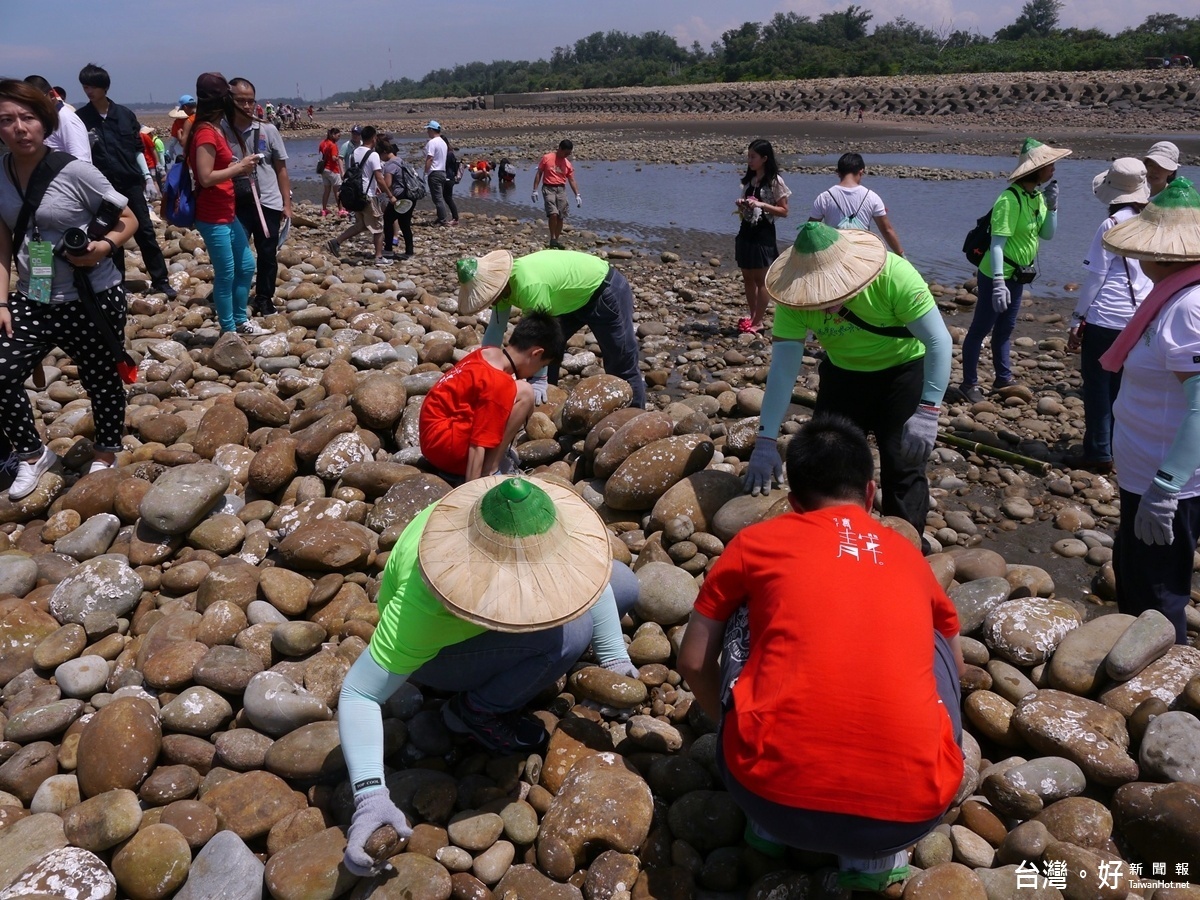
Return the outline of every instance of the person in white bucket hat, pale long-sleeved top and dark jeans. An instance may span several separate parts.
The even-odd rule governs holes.
[[[1092,180],[1092,193],[1109,208],[1084,260],[1087,276],[1075,304],[1067,349],[1080,353],[1084,377],[1084,452],[1072,460],[1075,468],[1099,474],[1112,472],[1112,404],[1121,389],[1121,372],[1108,372],[1100,356],[1117,340],[1152,287],[1136,259],[1126,259],[1104,247],[1104,235],[1128,222],[1150,200],[1146,167],[1140,160],[1116,160]]]

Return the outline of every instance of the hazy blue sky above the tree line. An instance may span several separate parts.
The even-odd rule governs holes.
[[[859,0],[872,25],[904,16],[935,30],[991,35],[1024,0]],[[776,12],[814,18],[848,0],[198,0],[66,2],[0,0],[0,74],[42,74],[82,98],[77,74],[97,62],[119,102],[169,102],[216,70],[244,76],[259,97],[318,98],[420,78],[433,68],[493,59],[548,58],[593,31],[665,31],[706,48],[743,22]],[[1200,0],[1064,0],[1064,26],[1115,32],[1154,11],[1200,16]]]

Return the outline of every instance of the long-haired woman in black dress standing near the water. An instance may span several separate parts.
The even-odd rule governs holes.
[[[779,175],[775,149],[769,140],[751,140],[746,148],[746,174],[742,196],[736,200],[742,227],[733,242],[733,254],[742,270],[750,314],[738,319],[738,331],[758,334],[767,316],[767,269],[779,256],[775,220],[787,216],[791,190]]]

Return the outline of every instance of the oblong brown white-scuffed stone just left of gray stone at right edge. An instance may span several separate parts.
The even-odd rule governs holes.
[[[1138,778],[1124,716],[1102,703],[1042,690],[1016,706],[1013,726],[1039,752],[1067,757],[1103,785]]]

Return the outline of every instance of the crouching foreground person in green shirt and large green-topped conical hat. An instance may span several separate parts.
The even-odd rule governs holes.
[[[607,528],[569,487],[492,475],[413,518],[388,557],[379,622],[338,698],[354,792],[346,868],[383,868],[365,850],[380,826],[412,833],[384,773],[382,706],[402,684],[452,692],[442,707],[450,731],[524,756],[547,734],[522,709],[589,644],[613,678],[637,678],[620,631],[636,601],[637,576],[613,562]]]

